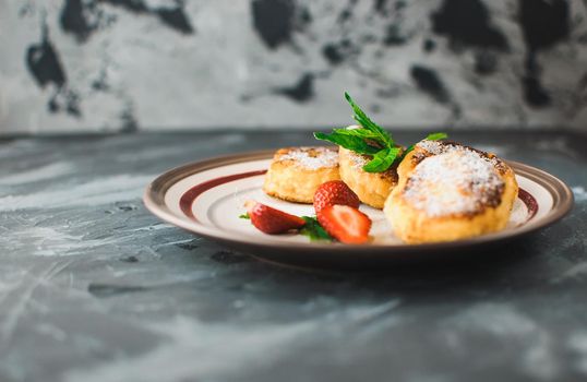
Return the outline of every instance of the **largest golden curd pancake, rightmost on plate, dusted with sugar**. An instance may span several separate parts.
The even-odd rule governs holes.
[[[408,243],[452,241],[505,228],[518,186],[493,154],[454,142],[419,142],[397,168],[384,213]]]

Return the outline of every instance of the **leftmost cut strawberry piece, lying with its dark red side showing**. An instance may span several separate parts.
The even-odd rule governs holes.
[[[265,234],[284,234],[290,229],[298,229],[306,225],[306,220],[296,215],[290,215],[268,205],[248,201],[244,203],[251,223]]]

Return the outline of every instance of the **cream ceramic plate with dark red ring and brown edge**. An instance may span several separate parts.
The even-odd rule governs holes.
[[[370,244],[311,242],[300,235],[265,235],[243,214],[254,199],[296,215],[314,215],[306,204],[284,202],[262,191],[274,151],[245,153],[197,162],[169,170],[146,189],[146,207],[161,219],[254,256],[302,266],[369,267],[470,252],[489,243],[519,237],[562,218],[573,205],[573,193],[561,180],[537,168],[508,162],[516,172],[519,196],[507,227],[474,239],[430,244],[405,244],[391,234],[379,210],[361,205],[373,220]]]

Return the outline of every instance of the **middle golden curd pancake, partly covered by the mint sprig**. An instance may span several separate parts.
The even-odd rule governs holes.
[[[361,202],[381,210],[392,190],[397,186],[397,165],[393,165],[383,172],[367,172],[362,167],[369,160],[371,157],[368,155],[339,147],[340,179],[359,196]]]

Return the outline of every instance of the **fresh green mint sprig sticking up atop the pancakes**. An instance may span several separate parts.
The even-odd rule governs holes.
[[[352,119],[359,123],[360,128],[333,129],[328,134],[315,132],[316,140],[328,141],[355,153],[372,156],[372,159],[362,168],[367,172],[383,172],[394,162],[402,160],[407,153],[414,150],[414,145],[411,145],[402,153],[402,147],[394,142],[392,135],[373,122],[346,92],[345,98],[355,112]],[[427,139],[438,141],[446,136],[445,133],[432,133]]]

